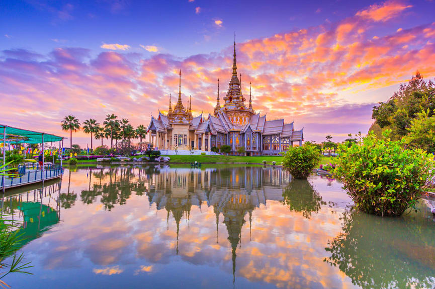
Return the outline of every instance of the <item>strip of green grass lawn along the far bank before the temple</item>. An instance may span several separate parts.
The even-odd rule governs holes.
[[[164,155],[162,155],[164,156]],[[169,157],[169,163],[257,163],[260,164],[266,161],[267,164],[272,164],[273,161],[277,162],[277,165],[281,165],[284,157],[281,156],[252,156],[252,157],[239,157],[239,156],[189,156],[189,155],[175,155],[165,156]],[[322,157],[320,164],[334,163],[333,157]],[[67,164],[67,162],[64,162]],[[78,160],[77,164],[96,163],[96,160]]]

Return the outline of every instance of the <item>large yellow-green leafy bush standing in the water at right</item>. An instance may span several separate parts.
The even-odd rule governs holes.
[[[341,145],[332,173],[363,212],[399,216],[415,208],[434,163],[432,155],[403,149],[404,140],[392,141],[389,133],[377,138],[371,131],[360,144]]]

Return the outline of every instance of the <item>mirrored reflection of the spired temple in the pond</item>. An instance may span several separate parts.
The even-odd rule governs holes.
[[[288,172],[280,168],[240,167],[231,169],[169,168],[148,179],[147,193],[150,206],[166,209],[177,224],[177,254],[180,220],[189,218],[192,206],[201,208],[203,203],[213,207],[216,214],[216,242],[219,216],[228,231],[231,244],[233,280],[236,249],[241,245],[241,229],[246,214],[251,225],[252,211],[267,201],[283,201],[283,190],[291,180]]]

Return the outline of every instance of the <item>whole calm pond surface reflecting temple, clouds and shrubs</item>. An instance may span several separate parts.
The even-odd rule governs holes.
[[[435,286],[431,200],[375,217],[335,180],[228,165],[79,167],[12,193],[34,265],[14,288]]]

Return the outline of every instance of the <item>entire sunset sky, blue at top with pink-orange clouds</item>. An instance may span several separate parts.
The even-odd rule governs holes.
[[[2,1],[0,123],[69,137],[107,114],[148,125],[178,96],[213,112],[234,33],[242,91],[305,140],[366,133],[372,107],[415,71],[435,77],[435,1]],[[73,134],[90,146],[90,136]],[[97,142],[98,143],[98,142]],[[105,140],[108,144],[109,141]]]

